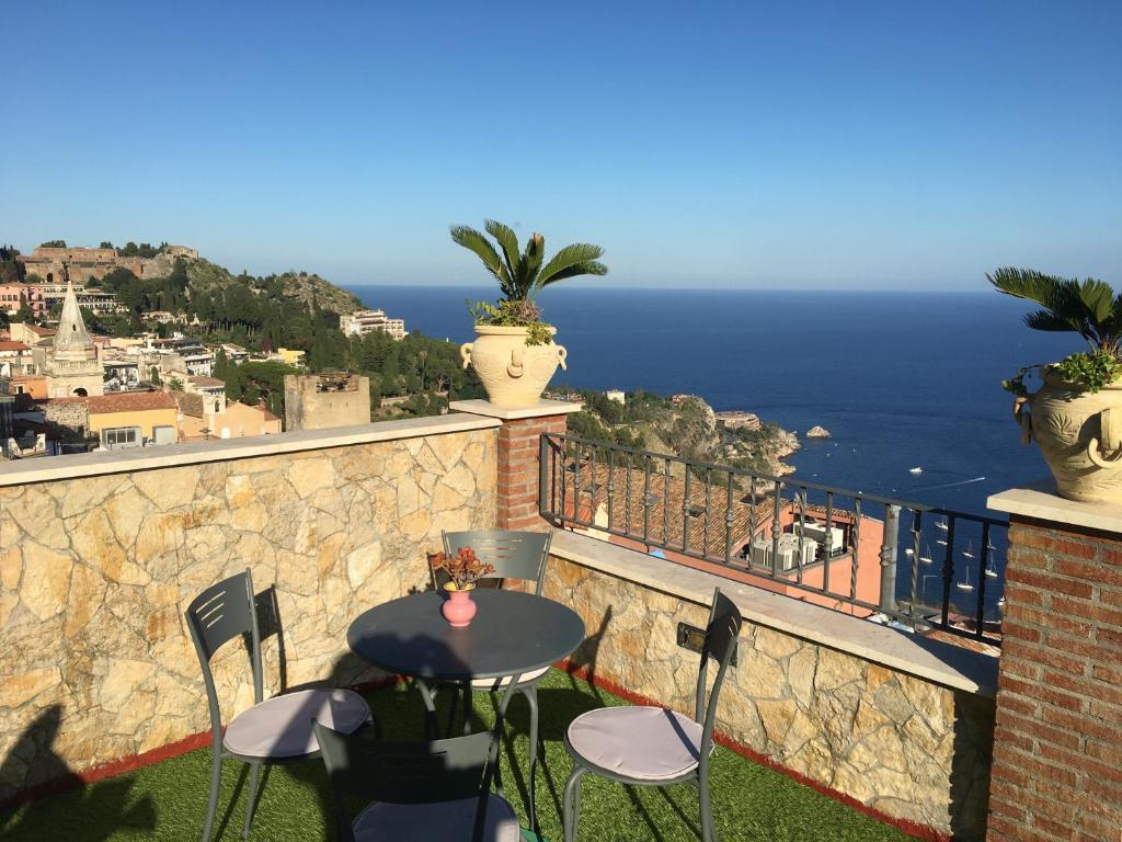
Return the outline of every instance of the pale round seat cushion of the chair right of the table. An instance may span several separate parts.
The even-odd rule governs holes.
[[[666,780],[697,768],[701,725],[662,707],[600,707],[569,723],[569,744],[616,775]]]

